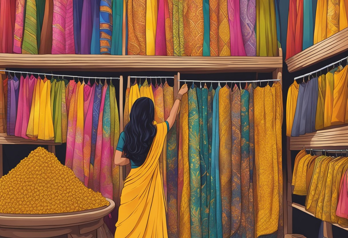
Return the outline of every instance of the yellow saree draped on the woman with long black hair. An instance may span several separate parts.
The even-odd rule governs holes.
[[[126,177],[121,193],[115,238],[168,237],[163,179],[158,158],[167,135],[166,122],[156,125],[144,164],[133,168]]]

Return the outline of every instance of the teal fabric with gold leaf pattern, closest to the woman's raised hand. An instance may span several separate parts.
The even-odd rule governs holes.
[[[200,203],[199,112],[196,88],[188,92],[191,237],[202,237]]]

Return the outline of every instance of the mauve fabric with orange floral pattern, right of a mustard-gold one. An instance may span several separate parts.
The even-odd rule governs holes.
[[[231,216],[233,222],[231,223],[230,235],[235,235],[240,224],[242,216],[242,194],[240,187],[240,168],[241,168],[241,98],[240,90],[235,85],[231,93],[231,121],[232,121],[232,197],[231,197]],[[236,234],[237,235],[237,234]]]

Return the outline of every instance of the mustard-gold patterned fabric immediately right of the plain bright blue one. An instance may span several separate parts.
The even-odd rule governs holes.
[[[232,134],[231,134],[231,90],[228,86],[219,92],[219,168],[221,183],[222,235],[230,237],[231,233],[231,189],[232,189]],[[227,110],[226,110],[227,109]]]

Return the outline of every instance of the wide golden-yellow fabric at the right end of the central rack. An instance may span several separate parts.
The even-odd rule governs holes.
[[[280,84],[254,90],[255,235],[271,234],[282,225],[282,94]]]

